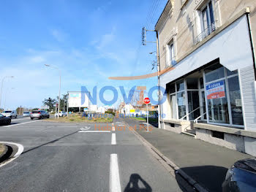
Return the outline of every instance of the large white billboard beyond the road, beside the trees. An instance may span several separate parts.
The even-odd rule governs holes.
[[[69,107],[89,107],[88,93],[84,93],[80,91],[70,91],[68,106]]]

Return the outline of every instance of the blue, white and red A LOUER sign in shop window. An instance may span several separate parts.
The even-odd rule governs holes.
[[[219,99],[225,97],[224,80],[206,85],[206,96],[207,99]]]

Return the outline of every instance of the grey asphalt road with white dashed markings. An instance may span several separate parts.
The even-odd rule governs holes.
[[[24,147],[0,167],[0,191],[185,191],[132,132],[99,126],[107,124],[20,118],[0,126],[1,142]]]

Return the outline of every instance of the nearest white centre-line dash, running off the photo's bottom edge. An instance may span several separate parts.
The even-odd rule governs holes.
[[[117,154],[110,154],[110,192],[121,192]]]

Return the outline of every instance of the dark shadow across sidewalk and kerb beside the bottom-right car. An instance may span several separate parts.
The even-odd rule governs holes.
[[[191,166],[181,170],[208,191],[222,191],[222,183],[227,173],[227,168],[222,166]],[[176,180],[182,188],[183,183],[180,182],[180,177],[181,175],[176,172]]]

